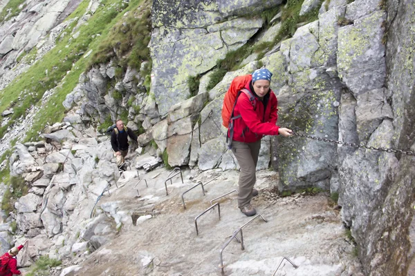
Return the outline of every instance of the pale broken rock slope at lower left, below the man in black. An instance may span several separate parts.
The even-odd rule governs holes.
[[[57,131],[51,135],[62,131],[57,126],[54,130]],[[92,129],[84,132],[91,133]],[[17,233],[30,237],[33,244],[29,247],[36,248],[25,250],[19,264],[29,266],[33,258],[45,254],[55,258],[81,254],[91,240],[96,250],[114,235],[115,226],[107,216],[89,219],[97,198],[119,178],[118,169],[111,162],[108,137],[100,137],[98,143],[97,138],[78,135],[79,144],[64,139],[62,144],[50,140],[54,146],[47,142],[17,144],[10,158],[13,173],[23,176],[29,186],[29,193],[15,203],[12,217],[17,223]],[[41,162],[43,166],[39,166]],[[8,235],[3,235],[9,228],[10,224],[0,224],[0,242],[4,248],[11,244]]]

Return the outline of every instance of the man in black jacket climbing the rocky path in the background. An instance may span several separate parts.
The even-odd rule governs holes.
[[[116,128],[111,132],[111,146],[119,168],[123,166],[124,157],[128,154],[128,137],[133,141],[137,141],[137,135],[134,134],[131,128],[124,126],[122,120],[116,121]]]

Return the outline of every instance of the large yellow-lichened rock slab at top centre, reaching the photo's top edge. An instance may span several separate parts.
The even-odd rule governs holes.
[[[217,2],[217,3],[216,3]],[[252,14],[259,1],[196,1],[187,12],[187,1],[169,5],[154,1],[151,58],[154,75],[151,94],[155,95],[160,115],[190,95],[187,79],[216,66],[230,50],[243,46],[262,26],[260,17],[228,18],[232,14]],[[261,9],[281,1],[266,1]],[[218,23],[223,21],[222,23]]]

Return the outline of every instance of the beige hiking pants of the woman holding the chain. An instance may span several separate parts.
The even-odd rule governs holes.
[[[239,172],[239,195],[238,207],[243,208],[250,204],[252,199],[252,189],[257,180],[257,161],[261,140],[254,143],[243,143],[232,141],[232,152],[237,157],[238,164],[241,167]]]

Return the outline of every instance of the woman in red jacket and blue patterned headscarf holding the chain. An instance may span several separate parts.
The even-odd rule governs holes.
[[[277,97],[270,90],[272,75],[265,68],[252,73],[252,81],[246,83],[234,106],[233,134],[228,132],[228,138],[232,139],[232,152],[241,167],[238,207],[248,217],[257,213],[250,201],[258,195],[254,185],[261,138],[264,135],[293,135],[292,130],[276,126]]]

